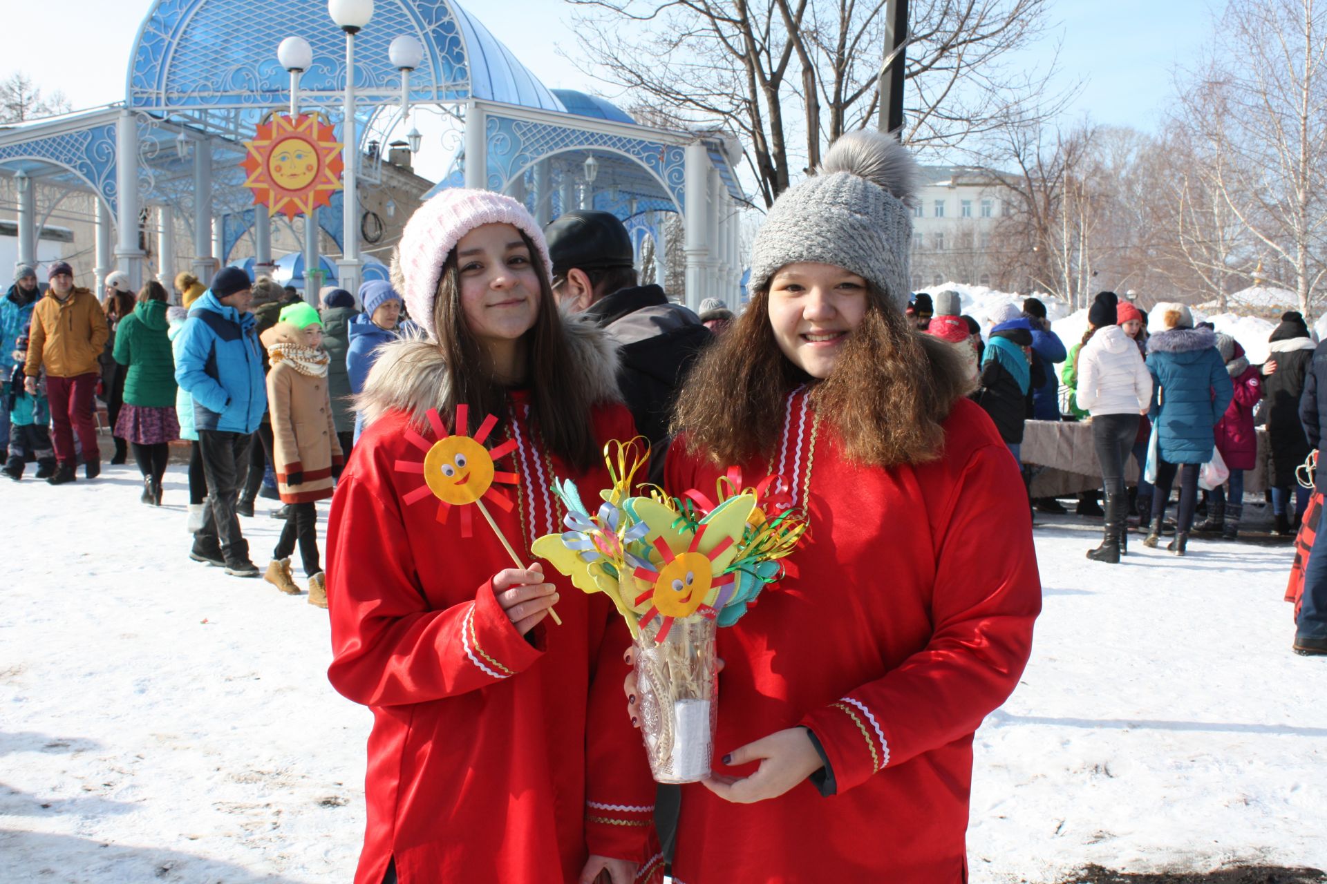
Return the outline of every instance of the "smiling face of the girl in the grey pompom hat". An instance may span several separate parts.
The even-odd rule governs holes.
[[[779,350],[812,378],[828,378],[867,314],[867,281],[832,264],[788,264],[770,278],[770,327]]]

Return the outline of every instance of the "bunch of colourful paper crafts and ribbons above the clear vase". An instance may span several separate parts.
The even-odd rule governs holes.
[[[661,492],[632,497],[632,478],[649,455],[642,441],[605,448],[613,485],[600,492],[604,502],[593,514],[575,484],[555,482],[568,530],[540,537],[532,551],[577,588],[612,599],[633,637],[656,618],[660,643],[677,620],[731,626],[782,577],[779,559],[796,549],[805,521],[780,480],[743,488],[738,470],[719,480],[718,502],[695,490],[682,500]]]

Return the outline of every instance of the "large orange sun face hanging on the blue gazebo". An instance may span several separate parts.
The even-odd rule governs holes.
[[[242,167],[248,174],[244,187],[253,191],[275,215],[308,215],[318,205],[330,205],[332,193],[341,190],[341,142],[333,140],[332,126],[317,114],[273,114],[257,125],[257,137],[244,142]]]

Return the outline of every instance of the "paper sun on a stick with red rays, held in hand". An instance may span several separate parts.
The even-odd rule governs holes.
[[[507,513],[514,506],[512,500],[507,494],[494,488],[494,482],[516,485],[519,476],[512,472],[499,470],[494,461],[502,460],[516,451],[516,440],[508,439],[492,448],[484,448],[484,441],[494,431],[494,427],[498,425],[498,419],[492,415],[486,415],[475,435],[467,436],[464,431],[470,425],[470,408],[464,404],[456,406],[456,420],[453,424],[456,432],[454,433],[447,432],[437,408],[430,408],[425,412],[425,416],[433,428],[435,437],[433,441],[429,441],[410,427],[405,429],[405,436],[410,444],[423,452],[423,461],[398,460],[395,463],[398,473],[423,476],[425,484],[409,492],[402,500],[409,506],[427,500],[430,496],[435,497],[438,500],[437,520],[443,525],[450,520],[453,508],[459,509],[462,537],[474,537],[475,516],[470,508],[474,504],[488,522],[488,526],[494,529],[494,534],[502,541],[503,547],[511,555],[511,561],[518,569],[524,569],[525,563],[516,555],[516,550],[512,549],[502,529],[498,527],[498,522],[488,513],[488,508],[484,506],[484,501],[488,501]],[[561,626],[563,622],[559,619],[557,612],[552,608],[548,612],[553,618],[553,623]]]

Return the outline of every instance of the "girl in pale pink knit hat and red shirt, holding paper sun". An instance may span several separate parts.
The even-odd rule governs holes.
[[[356,884],[657,880],[653,782],[618,705],[625,624],[515,567],[478,505],[442,506],[421,467],[445,435],[495,451],[510,509],[482,500],[528,550],[560,530],[553,477],[608,486],[602,445],[634,436],[613,350],[559,315],[543,233],[499,193],[429,200],[393,277],[427,338],[382,347],[328,526],[328,676],[374,720]],[[479,486],[484,460],[449,449],[434,478]]]

